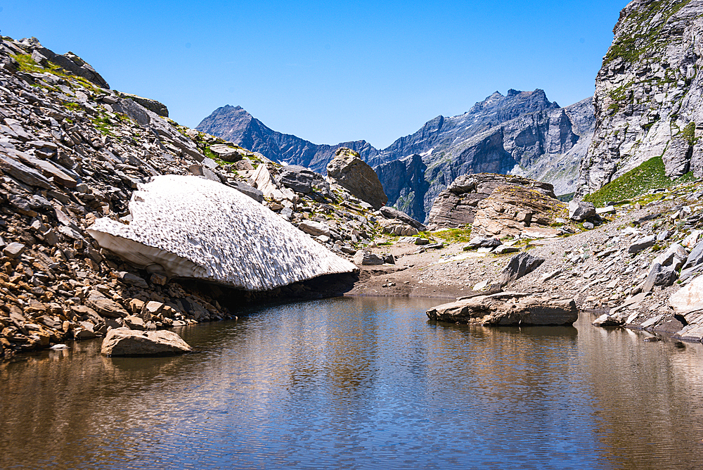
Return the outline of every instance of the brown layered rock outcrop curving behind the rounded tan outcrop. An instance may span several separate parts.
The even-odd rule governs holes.
[[[441,191],[427,217],[427,226],[434,230],[472,224],[479,203],[499,186],[524,186],[547,198],[555,198],[553,186],[548,183],[506,174],[465,174]]]

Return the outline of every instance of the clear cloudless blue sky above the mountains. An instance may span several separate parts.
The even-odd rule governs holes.
[[[594,91],[627,1],[1,2],[2,34],[73,51],[195,127],[240,105],[316,144],[385,148],[494,91]]]

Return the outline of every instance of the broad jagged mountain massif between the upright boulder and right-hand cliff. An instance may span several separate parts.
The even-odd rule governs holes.
[[[370,163],[378,164],[376,172],[388,186],[389,205],[425,220],[439,193],[463,174],[517,174],[549,182],[558,194],[574,192],[593,123],[591,99],[560,108],[542,90],[496,92],[463,115],[427,122]],[[403,170],[395,160],[413,154],[425,175],[401,183],[397,172],[410,167]],[[420,166],[418,157],[402,161]]]

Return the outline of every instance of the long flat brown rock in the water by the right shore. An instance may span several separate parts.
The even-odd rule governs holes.
[[[564,325],[579,318],[574,299],[501,292],[446,303],[427,310],[438,322],[493,326]]]

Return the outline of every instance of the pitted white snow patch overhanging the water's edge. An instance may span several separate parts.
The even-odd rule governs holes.
[[[164,175],[141,184],[129,225],[107,217],[88,228],[101,247],[169,277],[267,291],[354,265],[228,186]]]

